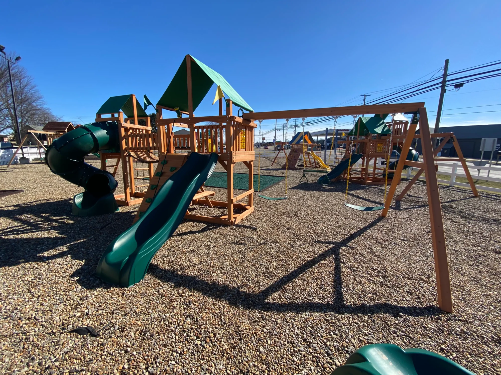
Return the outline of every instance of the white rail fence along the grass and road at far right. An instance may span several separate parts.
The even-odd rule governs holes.
[[[463,186],[463,187],[470,187],[469,183],[465,182],[457,182],[456,177],[464,177],[466,178],[466,174],[464,173],[464,169],[459,162],[454,162],[454,163],[441,163],[437,162],[436,163],[439,167],[440,166],[445,166],[447,168],[450,168],[451,170],[439,170],[437,173],[438,174],[445,174],[450,176],[450,181],[446,179],[439,179],[438,182],[440,183],[447,183],[449,186]],[[479,165],[468,165],[468,170],[471,174],[471,177],[473,180],[475,179],[481,179],[484,181],[495,181],[495,182],[501,182],[501,177],[493,177],[488,174],[490,174],[491,171],[496,171],[499,173],[496,173],[498,175],[501,175],[501,167],[496,167],[496,166],[479,166]],[[487,175],[479,174],[479,171],[481,170],[486,170]],[[410,179],[412,177],[411,174],[411,168],[407,169],[407,179]],[[426,177],[420,176],[419,179],[426,180]],[[479,190],[488,190],[488,191],[495,191],[495,192],[501,192],[501,188],[498,187],[491,187],[491,186],[483,186],[483,185],[476,185],[476,188]]]

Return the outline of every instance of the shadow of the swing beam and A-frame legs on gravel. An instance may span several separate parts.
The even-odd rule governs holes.
[[[399,314],[412,316],[429,316],[440,315],[444,312],[438,307],[429,306],[399,306],[391,303],[375,303],[375,304],[346,304],[343,295],[343,281],[341,279],[341,258],[340,249],[347,246],[352,240],[377,225],[382,220],[377,217],[375,220],[347,236],[341,241],[316,241],[317,243],[329,244],[332,247],[328,248],[319,255],[311,258],[300,267],[284,275],[279,280],[268,286],[259,293],[250,293],[240,290],[239,287],[229,287],[221,285],[217,282],[208,282],[195,276],[180,274],[179,272],[162,269],[156,264],[150,264],[148,273],[156,277],[160,281],[172,283],[175,287],[185,287],[190,290],[200,292],[210,298],[221,299],[233,306],[239,306],[246,309],[262,310],[262,311],[293,311],[293,312],[335,312],[335,313],[350,313],[350,314],[376,314],[387,313],[393,316]],[[293,281],[301,274],[314,267],[318,263],[332,258],[334,261],[334,296],[332,303],[317,303],[317,302],[269,302],[267,299],[274,293],[281,290],[286,284]]]

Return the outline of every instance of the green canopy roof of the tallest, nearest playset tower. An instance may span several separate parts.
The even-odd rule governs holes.
[[[212,84],[221,86],[226,97],[233,101],[233,104],[239,106],[249,112],[254,112],[254,109],[247,104],[245,100],[234,90],[233,87],[224,79],[217,71],[212,70],[203,62],[191,56],[191,91],[193,95],[193,110],[195,110],[207,92],[212,87]],[[181,111],[188,111],[188,81],[186,76],[186,58],[183,59],[181,65],[176,71],[174,78],[169,83],[169,86],[163,93],[158,105],[168,108],[179,107]]]

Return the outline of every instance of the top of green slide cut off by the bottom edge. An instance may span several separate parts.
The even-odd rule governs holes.
[[[432,351],[388,344],[362,346],[331,375],[474,375]]]

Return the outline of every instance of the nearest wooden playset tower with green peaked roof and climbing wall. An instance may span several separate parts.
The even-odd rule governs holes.
[[[219,115],[195,117],[193,111],[213,83],[222,88],[226,96],[217,99]],[[214,100],[215,102],[216,100]],[[226,113],[223,114],[223,103]],[[149,186],[142,195],[136,220],[145,212],[155,196],[155,190],[161,186],[173,173],[186,161],[187,154],[175,153],[173,127],[182,127],[189,130],[189,144],[191,152],[210,153],[216,152],[218,162],[227,172],[227,199],[219,201],[211,199],[214,191],[206,191],[203,186],[194,196],[192,204],[203,205],[210,208],[224,207],[225,214],[213,216],[198,215],[188,212],[187,219],[208,221],[218,224],[234,225],[254,210],[254,129],[256,123],[233,114],[233,103],[240,108],[252,111],[252,108],[229,83],[217,72],[204,65],[189,54],[181,63],[171,83],[156,105],[158,133],[165,140],[165,147],[159,150],[159,160],[156,170],[149,179]],[[163,110],[176,111],[187,114],[188,117],[163,118]],[[178,114],[178,115],[179,115]],[[182,122],[181,122],[182,121]],[[210,123],[210,124],[206,124]],[[216,123],[216,124],[214,124]],[[164,130],[165,129],[165,130]],[[177,140],[176,140],[177,144]],[[186,144],[186,142],[184,142]],[[248,189],[234,196],[233,169],[237,162],[243,163],[248,170]],[[240,202],[247,198],[247,203]],[[235,212],[236,211],[236,212]]]

